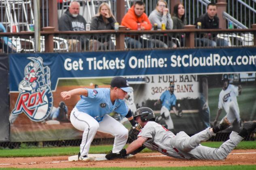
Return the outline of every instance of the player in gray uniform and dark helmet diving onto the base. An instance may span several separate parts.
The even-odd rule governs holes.
[[[183,131],[175,135],[154,122],[154,112],[148,107],[137,109],[134,118],[143,127],[138,134],[138,138],[119,153],[107,154],[106,158],[108,160],[126,158],[128,154],[136,154],[145,147],[179,159],[224,160],[228,153],[256,128],[256,122],[246,122],[243,124],[241,132],[231,132],[228,141],[224,142],[219,148],[211,148],[202,146],[200,143],[207,141],[211,136],[215,136],[217,132],[228,128],[230,123],[226,118],[222,124],[207,128],[191,137]]]

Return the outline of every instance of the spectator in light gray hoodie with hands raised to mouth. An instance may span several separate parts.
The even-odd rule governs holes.
[[[165,25],[166,29],[173,29],[173,20],[171,19],[171,14],[169,13],[169,8],[167,8],[167,2],[165,0],[158,0],[156,9],[150,13],[148,18],[152,25],[157,24],[158,29],[161,29],[162,24]],[[172,37],[173,34],[169,36],[156,36],[157,39],[165,42],[169,47],[177,47],[172,42]]]

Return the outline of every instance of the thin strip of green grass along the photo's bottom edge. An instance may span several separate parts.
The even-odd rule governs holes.
[[[221,170],[255,170],[255,165],[238,165],[238,166],[194,166],[194,167],[145,167],[145,168],[47,168],[47,170],[216,170],[220,168]],[[24,168],[0,168],[0,170],[24,170]],[[29,170],[44,170],[44,168],[26,168]]]

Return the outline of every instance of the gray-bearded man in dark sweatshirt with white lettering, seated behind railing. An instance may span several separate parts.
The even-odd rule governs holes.
[[[59,31],[85,31],[86,21],[83,16],[79,15],[80,4],[72,1],[66,12],[59,19]],[[80,44],[86,49],[97,50],[98,41],[89,40],[86,36],[75,36],[68,39],[68,50],[80,50]],[[89,45],[90,44],[90,45]]]

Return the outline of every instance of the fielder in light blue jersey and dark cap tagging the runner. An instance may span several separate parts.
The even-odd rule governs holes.
[[[126,144],[128,130],[109,113],[115,111],[126,116],[132,126],[140,128],[135,122],[132,112],[123,99],[127,92],[132,91],[128,81],[122,77],[114,77],[110,88],[77,88],[61,92],[64,100],[73,95],[80,95],[81,99],[70,113],[70,122],[78,130],[83,131],[83,138],[78,154],[79,160],[90,160],[87,157],[90,145],[97,131],[115,136],[112,153],[119,152]]]

